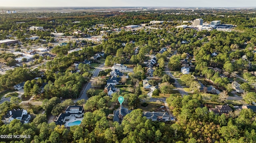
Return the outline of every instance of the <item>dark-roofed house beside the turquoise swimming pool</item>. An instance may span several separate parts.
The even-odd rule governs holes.
[[[84,108],[83,106],[68,106],[65,113],[61,113],[56,121],[56,125],[64,125],[65,121],[69,120],[71,117],[81,118],[84,116]]]

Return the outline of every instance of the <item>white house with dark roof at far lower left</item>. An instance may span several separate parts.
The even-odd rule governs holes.
[[[27,110],[13,109],[13,110],[8,110],[4,118],[5,118],[4,122],[6,123],[10,123],[10,121],[14,119],[20,120],[21,123],[29,123],[31,116],[30,114],[28,114]]]

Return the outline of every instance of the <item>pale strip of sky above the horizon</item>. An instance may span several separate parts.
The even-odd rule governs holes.
[[[256,7],[256,0],[5,0],[8,7]]]

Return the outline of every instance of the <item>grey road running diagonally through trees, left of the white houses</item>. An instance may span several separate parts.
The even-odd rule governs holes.
[[[101,65],[99,65],[98,67],[95,68],[95,71],[92,74],[92,79],[98,76],[99,72],[102,70],[103,67],[104,67],[104,64],[101,64]],[[92,79],[84,86],[85,88],[81,91],[82,95],[77,100],[74,100],[75,102],[77,102],[78,100],[81,100],[81,99],[88,100],[88,97],[86,95],[86,91],[88,89],[92,88]]]

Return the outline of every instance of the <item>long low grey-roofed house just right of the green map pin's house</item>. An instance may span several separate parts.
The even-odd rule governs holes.
[[[162,121],[162,119],[170,119],[167,112],[142,112],[142,116],[152,121]]]

